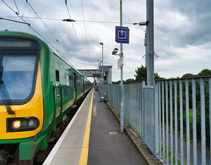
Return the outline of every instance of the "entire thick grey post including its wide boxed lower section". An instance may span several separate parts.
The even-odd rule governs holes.
[[[154,0],[146,0],[147,3],[147,86],[143,88],[143,142],[151,146],[150,150],[157,157],[158,153],[158,104],[157,89],[154,83]],[[149,122],[150,120],[150,122]],[[150,131],[149,131],[150,130]]]

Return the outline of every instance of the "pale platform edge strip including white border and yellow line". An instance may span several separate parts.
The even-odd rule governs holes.
[[[91,122],[93,90],[79,107],[43,165],[86,164]]]

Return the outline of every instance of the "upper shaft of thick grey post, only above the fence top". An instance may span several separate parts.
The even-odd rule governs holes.
[[[147,1],[147,85],[154,86],[154,1]]]

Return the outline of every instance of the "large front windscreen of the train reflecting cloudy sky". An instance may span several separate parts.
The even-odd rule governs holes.
[[[21,102],[32,93],[35,85],[37,56],[33,54],[3,54],[0,57],[0,102]]]

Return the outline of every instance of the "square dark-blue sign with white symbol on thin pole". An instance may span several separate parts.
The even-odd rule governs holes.
[[[129,43],[129,28],[116,26],[115,41],[117,43]]]

